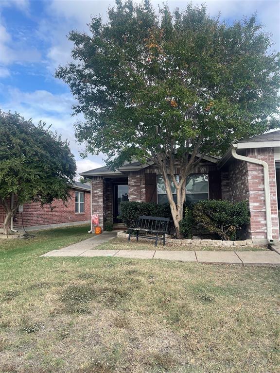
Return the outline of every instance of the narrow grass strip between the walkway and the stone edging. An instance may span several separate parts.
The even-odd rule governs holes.
[[[163,246],[162,242],[159,241],[157,243],[157,247],[155,247],[155,241],[153,240],[144,240],[139,238],[139,241],[136,242],[134,237],[131,238],[130,242],[127,242],[126,238],[123,237],[116,237],[109,242],[106,242],[100,246],[98,246],[100,250],[186,250],[186,251],[264,251],[268,250],[265,246],[205,246],[205,245],[173,245],[170,243],[166,243]]]

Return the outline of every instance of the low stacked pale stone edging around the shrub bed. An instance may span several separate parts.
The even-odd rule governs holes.
[[[124,237],[128,238],[128,234],[120,231],[117,233],[117,237]],[[131,237],[131,239],[136,239],[136,237]],[[145,238],[141,238],[145,239]],[[149,241],[149,239],[145,239]],[[253,247],[253,241],[251,239],[245,239],[243,241],[223,241],[221,239],[174,239],[174,238],[166,238],[167,243],[171,243],[173,245],[207,245],[207,246],[248,246]]]

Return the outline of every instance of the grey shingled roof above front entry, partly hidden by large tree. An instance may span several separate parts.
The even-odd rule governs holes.
[[[200,153],[197,154],[198,157],[201,156]],[[220,158],[212,155],[204,155],[202,157],[206,161],[217,163]],[[90,177],[90,176],[113,176],[113,175],[123,175],[125,171],[138,171],[145,169],[153,165],[154,162],[151,160],[147,160],[146,163],[141,163],[137,160],[133,160],[132,162],[124,162],[123,166],[119,167],[118,170],[110,170],[108,167],[103,166],[99,167],[98,169],[88,170],[85,172],[80,173],[81,176]]]

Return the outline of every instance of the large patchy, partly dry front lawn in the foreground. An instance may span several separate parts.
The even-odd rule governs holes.
[[[280,372],[279,268],[40,257],[87,230],[0,242],[1,373]]]

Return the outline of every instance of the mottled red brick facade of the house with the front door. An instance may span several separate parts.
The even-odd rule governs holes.
[[[279,223],[274,149],[247,149],[244,152],[244,155],[262,159],[268,164],[273,238],[277,240],[279,239]],[[179,170],[176,171],[179,173]],[[232,202],[247,201],[250,209],[251,223],[243,234],[244,238],[265,240],[266,217],[262,166],[231,158],[221,170],[218,170],[216,165],[209,163],[196,166],[193,170],[193,173],[208,173],[209,176],[211,172],[213,177],[209,177],[210,199],[222,198]],[[143,170],[127,171],[123,173],[123,177],[94,176],[92,178],[92,212],[94,214],[99,214],[99,222],[102,228],[104,219],[111,220],[112,218],[112,185],[118,182],[127,184],[129,201],[146,202],[148,198],[148,189],[145,185],[146,174],[158,174],[159,170],[155,166],[150,166]],[[210,180],[212,180],[212,185]],[[217,188],[220,188],[220,196],[219,193],[211,193],[211,191],[213,192],[213,190]]]

